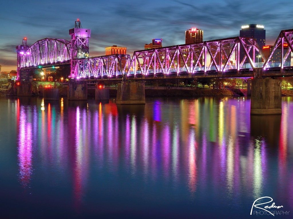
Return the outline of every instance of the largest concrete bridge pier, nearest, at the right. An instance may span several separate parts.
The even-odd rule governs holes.
[[[280,79],[253,79],[251,81],[250,114],[282,114],[281,83]]]

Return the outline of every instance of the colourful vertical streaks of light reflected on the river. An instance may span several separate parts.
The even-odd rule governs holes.
[[[97,179],[111,187],[142,178],[158,191],[186,188],[183,199],[201,194],[231,204],[266,196],[274,187],[271,168],[273,182],[292,194],[292,104],[283,105],[282,116],[250,116],[250,101],[242,98],[150,99],[141,106],[18,99],[19,177],[27,187],[33,166],[56,171],[79,208]],[[115,185],[123,190],[122,184]],[[292,206],[292,196],[286,199]]]

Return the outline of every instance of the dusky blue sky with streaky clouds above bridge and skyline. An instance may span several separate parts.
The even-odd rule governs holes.
[[[44,38],[70,41],[69,29],[79,18],[91,29],[89,55],[105,55],[105,47],[144,49],[152,39],[163,46],[185,44],[185,30],[203,30],[203,40],[239,36],[242,25],[264,25],[266,45],[274,45],[281,30],[293,29],[293,1],[276,0],[6,0],[1,2],[0,65],[16,70],[17,45],[27,37],[33,45]]]

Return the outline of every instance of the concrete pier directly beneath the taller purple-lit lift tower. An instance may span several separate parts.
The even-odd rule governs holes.
[[[88,99],[87,84],[68,84],[67,99],[68,100],[87,100]]]

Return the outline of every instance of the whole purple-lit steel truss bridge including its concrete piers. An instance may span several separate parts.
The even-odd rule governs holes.
[[[293,29],[280,32],[268,57],[255,39],[237,36],[134,51],[132,57],[115,54],[90,58],[91,30],[82,28],[77,20],[75,27],[69,29],[69,35],[71,41],[45,38],[28,46],[25,38],[22,45],[16,46],[17,79],[22,82],[17,83],[17,95],[31,95],[31,70],[62,65],[71,68],[68,100],[86,100],[87,81],[120,80],[117,104],[145,104],[144,81],[147,79],[251,77],[254,78],[248,82],[248,87],[250,83],[252,87],[251,114],[282,114],[281,80],[276,77],[293,75]],[[272,60],[277,50],[281,53],[280,62]],[[83,83],[79,83],[79,79],[83,79]],[[44,99],[45,96],[59,100],[59,90],[44,91]],[[96,99],[108,97],[109,91],[96,89]]]

